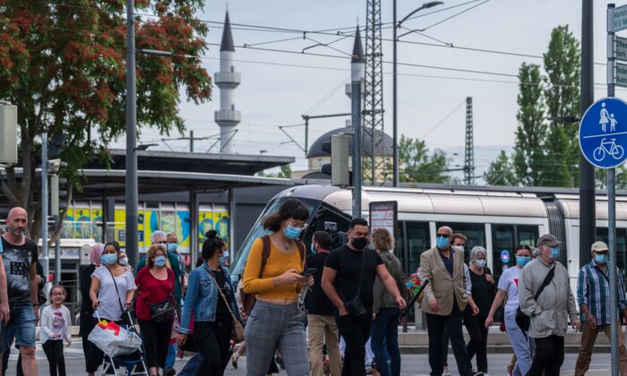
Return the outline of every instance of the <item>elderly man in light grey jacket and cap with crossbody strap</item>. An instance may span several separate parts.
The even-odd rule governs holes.
[[[564,360],[564,336],[569,316],[573,329],[580,326],[577,303],[572,295],[568,271],[556,261],[560,257],[560,242],[546,234],[537,240],[539,256],[522,269],[519,282],[520,310],[531,318],[529,337],[536,341],[536,354],[529,376],[560,374]],[[549,271],[554,276],[540,295],[535,297]]]

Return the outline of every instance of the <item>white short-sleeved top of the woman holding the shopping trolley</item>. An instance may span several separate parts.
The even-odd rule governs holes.
[[[133,274],[127,270],[116,277],[117,293],[113,278],[107,267],[100,266],[96,268],[91,274],[91,278],[100,280],[100,288],[98,290],[98,300],[100,302],[98,313],[100,319],[121,320],[122,308],[126,305],[126,293],[129,290],[137,289]],[[98,318],[96,312],[94,312],[93,317]]]

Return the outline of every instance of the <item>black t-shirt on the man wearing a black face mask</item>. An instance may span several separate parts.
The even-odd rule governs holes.
[[[364,278],[362,281],[359,298],[367,312],[373,312],[373,286],[376,278],[377,266],[383,261],[379,253],[372,249],[365,249]],[[342,245],[331,251],[324,266],[338,272],[333,285],[338,291],[342,300],[352,299],[357,295],[357,284],[359,283],[359,272],[362,265],[362,252],[353,251],[348,245]]]

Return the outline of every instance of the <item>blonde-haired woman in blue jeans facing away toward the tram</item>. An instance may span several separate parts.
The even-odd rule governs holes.
[[[396,281],[401,295],[405,295],[405,274],[399,259],[392,254],[394,237],[385,228],[375,228],[371,235],[374,249],[379,253],[385,268]],[[382,376],[399,376],[399,317],[400,308],[394,295],[391,295],[380,278],[374,280],[373,328],[370,346],[379,365]],[[387,349],[387,351],[386,351]]]

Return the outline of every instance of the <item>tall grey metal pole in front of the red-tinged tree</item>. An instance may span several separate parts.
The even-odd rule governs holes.
[[[137,113],[135,93],[135,26],[133,0],[126,0],[126,238],[128,261],[139,261],[137,206]]]

